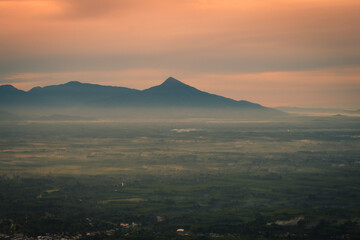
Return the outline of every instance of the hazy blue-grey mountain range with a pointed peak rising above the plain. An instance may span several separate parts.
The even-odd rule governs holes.
[[[0,86],[0,106],[12,107],[101,107],[101,108],[217,108],[277,113],[279,110],[248,101],[207,93],[169,77],[145,90],[80,82],[35,87],[28,92],[11,85]]]

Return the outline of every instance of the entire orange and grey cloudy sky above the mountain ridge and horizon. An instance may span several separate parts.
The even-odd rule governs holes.
[[[0,0],[0,85],[172,76],[265,106],[360,108],[359,0]]]

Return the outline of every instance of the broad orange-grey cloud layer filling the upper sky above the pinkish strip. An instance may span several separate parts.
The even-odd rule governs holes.
[[[15,2],[2,8],[11,15],[0,22],[1,71],[131,65],[226,73],[360,64],[358,1]]]

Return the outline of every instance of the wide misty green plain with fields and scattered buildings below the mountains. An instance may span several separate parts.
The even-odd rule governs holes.
[[[356,239],[358,123],[2,122],[1,237]]]

